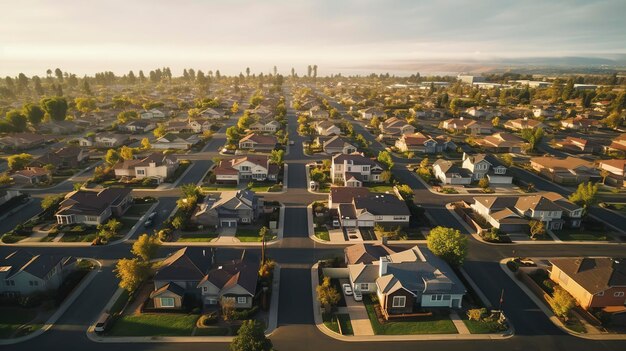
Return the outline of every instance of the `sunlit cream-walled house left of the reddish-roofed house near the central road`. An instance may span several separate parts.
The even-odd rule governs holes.
[[[161,183],[174,174],[178,165],[174,155],[154,152],[143,158],[120,161],[115,165],[114,172],[116,178],[150,178]]]

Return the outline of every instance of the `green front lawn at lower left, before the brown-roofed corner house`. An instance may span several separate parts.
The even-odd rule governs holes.
[[[197,314],[140,314],[120,317],[111,336],[191,336]]]

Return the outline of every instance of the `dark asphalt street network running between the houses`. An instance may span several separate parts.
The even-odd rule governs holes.
[[[331,101],[331,99],[329,99]],[[334,102],[331,102],[334,103]],[[288,104],[287,104],[288,105]],[[340,111],[343,109],[340,109]],[[563,334],[539,312],[536,305],[500,270],[497,262],[504,257],[518,256],[577,256],[577,255],[623,255],[624,247],[617,245],[487,245],[470,240],[469,255],[465,269],[471,278],[482,288],[492,304],[498,304],[501,291],[505,291],[504,311],[516,329],[516,335],[507,340],[498,341],[419,341],[419,342],[368,342],[351,343],[340,342],[322,334],[313,325],[310,267],[319,259],[342,256],[342,248],[316,244],[308,239],[307,215],[305,205],[310,202],[311,196],[305,196],[306,180],[304,163],[308,160],[302,154],[302,138],[295,132],[295,111],[288,110],[289,134],[294,145],[286,157],[289,164],[289,190],[283,195],[273,195],[272,198],[288,199],[284,220],[284,239],[277,244],[270,245],[268,256],[275,259],[281,266],[280,301],[278,308],[279,328],[272,335],[277,350],[410,350],[418,348],[438,348],[442,350],[624,350],[626,342],[621,341],[588,341]],[[359,123],[355,122],[357,133],[363,134],[368,140],[373,136]],[[209,146],[210,145],[210,146]],[[373,144],[380,149],[382,145]],[[201,180],[202,175],[210,166],[210,155],[216,153],[221,144],[216,139],[203,150],[202,156],[194,156],[201,166],[185,175],[179,184],[195,183]],[[205,152],[206,151],[206,152]],[[452,226],[466,233],[465,228],[456,221],[455,217],[443,208],[443,204],[453,201],[455,197],[444,197],[431,194],[417,181],[404,166],[396,160],[394,174],[402,182],[409,184],[416,193],[416,202],[424,206],[433,217],[435,224]],[[197,161],[195,161],[197,162]],[[405,161],[406,162],[406,161]],[[197,163],[196,163],[197,165]],[[196,168],[194,166],[194,168]],[[541,185],[536,182],[537,187]],[[156,228],[165,220],[165,213],[175,206],[176,196],[167,191],[155,193],[159,198]],[[269,197],[269,196],[267,196]],[[37,200],[35,200],[37,201]],[[33,204],[29,210],[37,209]],[[38,210],[38,209],[37,209]],[[28,218],[24,216],[19,216]],[[0,229],[11,228],[19,223],[18,217],[7,219],[0,223]],[[57,253],[74,255],[77,257],[93,257],[102,261],[103,269],[96,275],[92,284],[85,290],[77,301],[59,319],[58,323],[48,332],[30,341],[12,345],[0,346],[0,350],[227,350],[227,344],[202,343],[120,343],[100,344],[89,341],[85,336],[86,326],[94,321],[104,305],[116,289],[117,278],[112,268],[117,259],[128,257],[132,241],[102,247],[88,248],[59,248],[59,247],[30,247],[32,252]],[[164,247],[159,251],[161,257],[174,251],[175,247]],[[209,249],[209,248],[207,248]],[[13,247],[0,246],[0,254],[6,255],[13,251]],[[253,249],[252,251],[256,251]],[[239,248],[218,248],[219,259],[233,258],[240,255]]]

